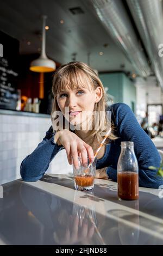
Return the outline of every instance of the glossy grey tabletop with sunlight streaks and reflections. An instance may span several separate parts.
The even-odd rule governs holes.
[[[162,245],[161,191],[141,188],[118,200],[117,184],[95,180],[93,192],[74,190],[68,175],[3,185],[0,242],[9,245]]]

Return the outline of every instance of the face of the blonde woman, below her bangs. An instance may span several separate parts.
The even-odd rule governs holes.
[[[64,117],[74,126],[83,124],[92,116],[95,103],[102,97],[102,88],[66,89],[57,95],[58,106]]]

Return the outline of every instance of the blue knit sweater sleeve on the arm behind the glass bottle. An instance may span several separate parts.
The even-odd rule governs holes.
[[[149,166],[159,167],[161,157],[151,138],[137,122],[133,111],[124,103],[114,104],[115,125],[121,141],[133,141],[135,155],[139,164],[139,186],[158,188],[163,179],[157,175],[157,170]],[[106,169],[109,178],[117,181],[117,169],[109,166]]]

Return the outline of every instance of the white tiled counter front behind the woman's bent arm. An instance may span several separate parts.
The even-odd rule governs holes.
[[[20,178],[20,164],[45,137],[51,119],[0,114],[0,184]],[[47,173],[72,173],[65,150],[51,162]]]

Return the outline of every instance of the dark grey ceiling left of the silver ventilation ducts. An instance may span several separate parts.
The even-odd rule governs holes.
[[[64,64],[72,61],[73,54],[77,53],[76,60],[87,63],[90,53],[90,65],[99,72],[135,72],[124,53],[92,13],[89,0],[0,0],[0,6],[0,31],[20,41],[21,54],[40,51],[41,15],[47,15],[48,57]],[[74,7],[82,8],[84,13],[73,15],[69,9]],[[64,20],[64,24],[60,20]],[[100,56],[99,52],[104,54]]]

